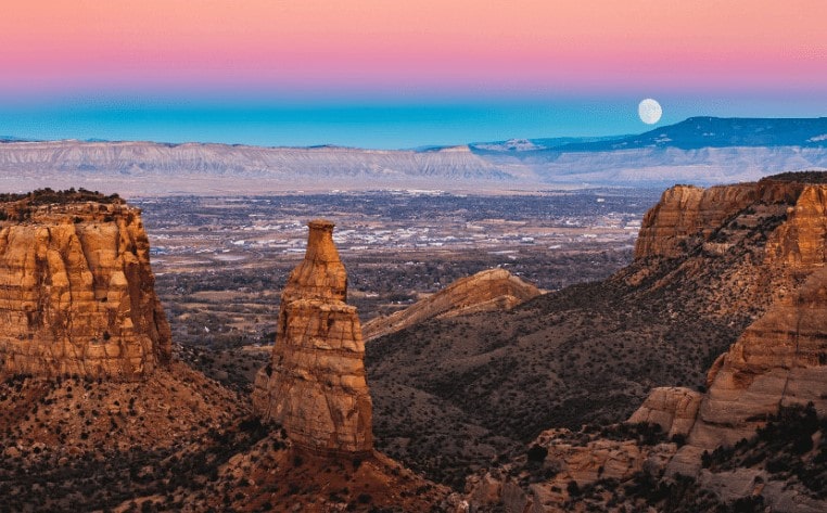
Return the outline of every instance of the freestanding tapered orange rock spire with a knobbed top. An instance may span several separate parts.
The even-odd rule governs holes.
[[[345,304],[347,274],[333,223],[315,220],[309,228],[304,261],[281,296],[272,358],[256,376],[253,407],[305,449],[370,452],[372,406],[359,318]]]

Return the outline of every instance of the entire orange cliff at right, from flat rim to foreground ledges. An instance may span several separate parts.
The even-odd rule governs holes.
[[[636,296],[648,300],[690,290],[691,308],[753,321],[704,392],[659,386],[625,423],[548,429],[526,456],[469,479],[472,508],[824,511],[826,182],[785,174],[664,192],[635,262],[612,280],[660,292]]]

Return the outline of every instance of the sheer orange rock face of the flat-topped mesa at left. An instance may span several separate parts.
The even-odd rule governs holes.
[[[0,372],[136,380],[166,364],[140,209],[23,203],[0,223]]]

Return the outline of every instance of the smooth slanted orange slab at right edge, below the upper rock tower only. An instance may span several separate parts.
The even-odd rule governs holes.
[[[702,451],[754,434],[779,407],[813,402],[827,415],[827,268],[755,321],[713,365],[688,445],[671,464],[691,474]]]

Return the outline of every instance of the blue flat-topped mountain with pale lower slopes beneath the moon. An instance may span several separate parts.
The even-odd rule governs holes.
[[[827,168],[827,118],[691,117],[637,136],[514,139],[470,149],[547,184],[709,185]]]

